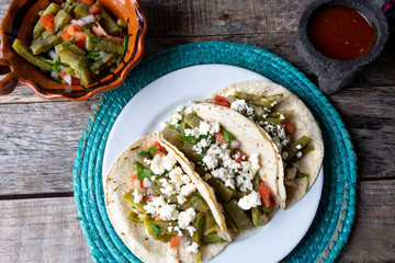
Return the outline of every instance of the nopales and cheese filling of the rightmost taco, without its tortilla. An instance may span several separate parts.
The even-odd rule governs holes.
[[[308,191],[309,175],[296,169],[297,162],[304,158],[314,147],[309,145],[311,138],[301,136],[293,139],[295,124],[289,119],[286,111],[278,111],[276,104],[282,100],[283,94],[278,93],[270,96],[257,95],[247,92],[236,91],[233,95],[215,96],[215,104],[230,107],[253,121],[263,128],[278,147],[283,160],[285,185],[294,186],[294,180],[306,178]],[[287,194],[287,197],[291,197]]]

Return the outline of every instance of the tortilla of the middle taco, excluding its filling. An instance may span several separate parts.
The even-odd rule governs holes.
[[[241,114],[224,106],[213,105],[210,103],[200,103],[187,108],[183,114],[192,112],[195,112],[200,118],[206,122],[218,122],[227,132],[233,135],[236,140],[240,142],[239,149],[248,157],[251,156],[251,153],[258,153],[260,164],[258,174],[264,184],[269,186],[275,201],[273,210],[268,213],[268,217],[270,218],[278,209],[279,205],[285,202],[285,199],[281,199],[279,195],[279,192],[283,192],[285,190],[279,190],[278,163],[281,162],[281,158],[276,152],[275,147],[272,145],[269,135],[264,136],[264,132],[262,133],[262,130],[257,125],[249,122]],[[174,139],[174,133],[176,132],[173,129],[167,126],[162,132],[162,136],[167,140],[168,146],[171,147],[173,151],[177,152],[177,155],[179,155],[182,160],[192,168],[194,164],[192,164],[192,162],[180,150],[182,146],[180,141]],[[196,181],[203,181],[200,174],[193,170],[191,175]],[[210,197],[215,199],[216,197],[214,195],[213,188],[207,183],[204,182],[204,184],[210,192]],[[284,185],[280,184],[280,187],[284,187]],[[218,207],[218,209],[221,208]],[[256,228],[233,232],[233,237],[241,237],[250,231],[253,231]]]

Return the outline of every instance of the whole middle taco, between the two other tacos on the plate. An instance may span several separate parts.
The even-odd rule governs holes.
[[[172,114],[162,136],[193,168],[191,176],[212,190],[234,238],[264,225],[278,209],[278,153],[241,114],[196,104]]]

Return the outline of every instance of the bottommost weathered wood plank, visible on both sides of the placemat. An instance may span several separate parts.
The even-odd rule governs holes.
[[[395,260],[395,181],[360,182],[339,262]],[[72,197],[0,202],[0,262],[91,262]],[[40,240],[40,242],[37,242]]]

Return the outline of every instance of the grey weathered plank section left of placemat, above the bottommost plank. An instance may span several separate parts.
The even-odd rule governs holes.
[[[1,105],[0,194],[71,192],[75,150],[94,104]]]

